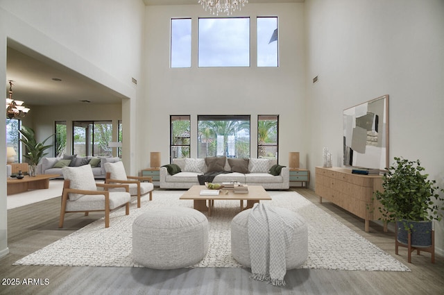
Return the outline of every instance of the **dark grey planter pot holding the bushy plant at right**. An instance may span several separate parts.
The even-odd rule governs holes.
[[[409,244],[409,232],[405,230],[404,222],[407,223],[409,227],[413,224],[413,230],[411,230],[411,246],[432,246],[432,221],[396,221],[396,227],[398,228],[398,236],[396,239],[398,239],[398,242],[406,245]]]

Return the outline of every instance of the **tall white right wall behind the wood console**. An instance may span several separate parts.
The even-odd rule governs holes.
[[[420,159],[444,187],[444,1],[305,5],[309,169],[323,165],[323,146],[341,166],[343,109],[388,94],[390,163],[394,156]],[[436,251],[443,255],[444,221],[435,226]]]

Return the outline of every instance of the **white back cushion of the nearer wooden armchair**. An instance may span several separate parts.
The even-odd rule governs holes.
[[[69,180],[69,188],[71,189],[86,189],[97,190],[96,181],[92,174],[90,165],[83,165],[79,167],[63,167],[63,178]],[[69,194],[69,200],[76,201],[84,194]]]

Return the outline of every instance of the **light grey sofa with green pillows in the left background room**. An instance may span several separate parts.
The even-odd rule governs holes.
[[[70,156],[65,156],[64,158],[65,160],[68,160],[67,158],[70,158]],[[63,178],[62,167],[60,167],[60,160],[64,160],[64,158],[42,158],[42,160],[40,160],[39,164],[37,165],[37,174],[60,174],[58,178]],[[92,158],[99,158],[99,163],[92,167],[92,173],[94,174],[94,178],[96,179],[105,179],[105,163],[114,163],[121,160],[117,157],[74,157],[71,159],[71,162],[69,162],[68,165],[69,167],[79,167],[87,165]]]

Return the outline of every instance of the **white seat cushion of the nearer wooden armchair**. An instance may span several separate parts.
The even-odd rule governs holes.
[[[110,210],[118,208],[131,200],[127,192],[110,192]],[[67,211],[105,210],[103,194],[85,194],[77,201],[67,201]]]

